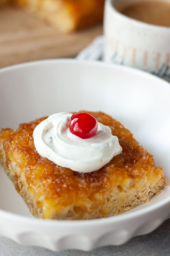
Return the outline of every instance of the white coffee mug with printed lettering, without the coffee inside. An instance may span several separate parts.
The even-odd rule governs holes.
[[[140,22],[117,11],[139,1],[106,0],[104,61],[143,69],[169,80],[170,28]]]

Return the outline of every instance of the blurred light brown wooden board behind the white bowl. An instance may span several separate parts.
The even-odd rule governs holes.
[[[74,57],[98,35],[102,25],[64,34],[26,10],[0,8],[0,67]]]

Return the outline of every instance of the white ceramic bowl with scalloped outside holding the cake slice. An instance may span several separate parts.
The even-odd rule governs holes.
[[[124,124],[165,170],[168,186],[126,213],[103,219],[35,219],[0,167],[0,236],[52,250],[120,245],[170,217],[170,84],[129,67],[47,60],[0,70],[0,126],[61,111],[104,111]]]

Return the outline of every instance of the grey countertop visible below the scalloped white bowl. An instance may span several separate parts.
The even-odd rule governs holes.
[[[0,237],[0,256],[170,256],[170,219],[150,234],[136,236],[119,246],[104,246],[90,252],[65,250],[53,252],[36,246],[21,246]]]

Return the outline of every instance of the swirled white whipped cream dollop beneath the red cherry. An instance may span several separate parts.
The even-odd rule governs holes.
[[[82,139],[70,132],[72,113],[57,113],[42,121],[33,132],[40,156],[73,171],[97,171],[122,152],[117,136],[98,122],[96,135]]]

